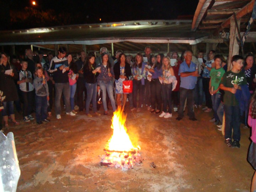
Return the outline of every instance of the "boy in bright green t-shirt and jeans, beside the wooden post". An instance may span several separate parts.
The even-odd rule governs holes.
[[[221,58],[223,58],[222,55],[214,56],[215,68],[212,68],[212,70],[210,71],[210,82],[209,82],[209,92],[212,95],[212,105],[213,105],[213,114],[214,114],[214,118],[210,121],[212,122],[215,121],[216,125],[218,125],[219,123],[217,110],[220,105],[220,96],[221,96],[221,93],[219,92],[219,84],[223,74],[225,73],[225,70],[221,66],[221,63],[222,63]]]

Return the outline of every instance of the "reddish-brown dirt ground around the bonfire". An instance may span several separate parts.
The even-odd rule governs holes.
[[[140,145],[143,157],[141,166],[128,171],[100,166],[104,145],[112,135],[112,114],[87,117],[79,112],[70,117],[63,111],[57,120],[53,112],[49,123],[38,125],[33,120],[4,129],[15,136],[21,169],[17,191],[250,190],[254,173],[246,160],[250,129],[241,125],[241,148],[230,149],[209,122],[212,113],[195,109],[198,121],[193,122],[187,116],[176,121],[176,112],[164,119],[146,108],[126,111],[128,133]]]

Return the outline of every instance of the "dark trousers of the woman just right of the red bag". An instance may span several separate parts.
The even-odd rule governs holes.
[[[142,85],[142,81],[133,80],[133,107],[137,108],[137,95],[139,91],[139,107],[143,104],[145,85]]]

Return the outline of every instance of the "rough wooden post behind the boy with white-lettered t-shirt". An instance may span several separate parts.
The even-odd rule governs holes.
[[[238,27],[240,28],[240,19],[237,20],[238,22]],[[231,58],[233,55],[238,55],[239,54],[239,44],[236,40],[236,37],[238,37],[238,30],[236,30],[236,25],[235,25],[235,19],[234,17],[230,18],[230,35],[229,35],[229,58],[228,58],[228,71],[232,69],[232,64],[231,64]]]

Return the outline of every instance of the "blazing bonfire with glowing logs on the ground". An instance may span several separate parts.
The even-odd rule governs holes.
[[[128,170],[133,168],[134,164],[140,164],[140,147],[133,146],[127,129],[125,127],[126,115],[123,110],[118,108],[114,112],[111,128],[113,135],[105,145],[106,155],[101,156],[101,165],[115,166]]]

